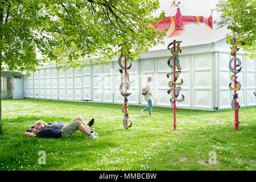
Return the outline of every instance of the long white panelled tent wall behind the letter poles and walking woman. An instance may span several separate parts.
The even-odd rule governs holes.
[[[168,82],[172,80],[166,76],[171,72],[167,65],[171,56],[167,45],[143,53],[132,63],[128,71],[130,80],[133,80],[129,89],[132,93],[128,97],[129,105],[147,104],[141,94],[141,87],[146,84],[147,77],[152,76],[156,98],[154,105],[172,106],[171,96],[167,94]],[[177,102],[179,108],[231,108],[229,47],[225,39],[190,46],[181,43],[179,60],[182,72],[179,79],[183,79],[183,85],[180,94],[184,95],[185,100]],[[256,60],[249,60],[241,50],[237,52],[237,57],[242,61],[242,71],[238,73],[238,81],[241,83],[238,101],[241,106],[255,106],[253,92],[256,91]],[[24,97],[123,104],[123,97],[119,93],[121,75],[118,69],[117,59],[108,65],[83,68],[81,72],[75,68],[63,72],[58,71],[55,65],[45,65],[39,71],[32,72],[31,77],[24,77]]]

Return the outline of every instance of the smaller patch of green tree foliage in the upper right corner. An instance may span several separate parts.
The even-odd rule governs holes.
[[[219,27],[228,26],[230,33],[226,35],[227,43],[236,38],[246,43],[241,48],[251,59],[256,57],[256,2],[254,0],[220,1],[216,10],[221,12],[220,21],[215,22]]]

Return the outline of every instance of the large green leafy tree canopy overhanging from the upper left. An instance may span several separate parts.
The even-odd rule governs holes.
[[[158,8],[158,0],[1,0],[1,70],[85,67],[119,56],[119,44],[135,60],[162,42],[165,32],[148,26],[164,17],[151,15]]]

